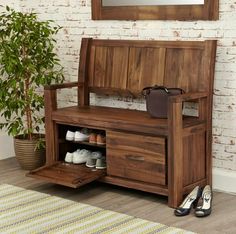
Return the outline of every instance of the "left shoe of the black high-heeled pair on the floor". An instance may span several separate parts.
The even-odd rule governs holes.
[[[197,206],[198,199],[201,196],[201,189],[196,186],[191,193],[184,199],[182,204],[174,211],[176,216],[185,216],[190,213],[192,207]]]

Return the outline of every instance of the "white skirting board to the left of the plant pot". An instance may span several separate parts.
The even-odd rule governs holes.
[[[7,135],[0,135],[0,160],[14,157],[13,138]]]

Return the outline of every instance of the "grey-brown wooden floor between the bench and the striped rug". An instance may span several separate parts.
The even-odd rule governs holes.
[[[25,177],[26,172],[20,169],[15,158],[1,160],[0,184],[16,185],[197,233],[236,233],[235,195],[214,192],[213,211],[209,217],[196,218],[193,212],[175,217],[163,196],[98,182],[72,189]]]

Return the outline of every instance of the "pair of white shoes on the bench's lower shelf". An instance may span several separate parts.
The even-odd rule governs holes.
[[[86,149],[77,149],[73,153],[66,153],[65,162],[74,164],[86,163],[90,156],[91,151]]]

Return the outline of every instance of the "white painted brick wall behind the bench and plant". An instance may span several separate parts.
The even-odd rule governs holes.
[[[147,40],[217,39],[213,108],[213,164],[236,171],[236,2],[220,0],[219,21],[92,21],[90,0],[1,0],[1,5],[19,3],[22,11],[34,10],[40,19],[53,19],[63,27],[57,36],[58,54],[66,68],[66,80],[77,80],[82,37]],[[69,94],[69,96],[67,96]],[[66,92],[59,99],[76,98]],[[143,109],[140,100],[104,99],[92,101]]]

